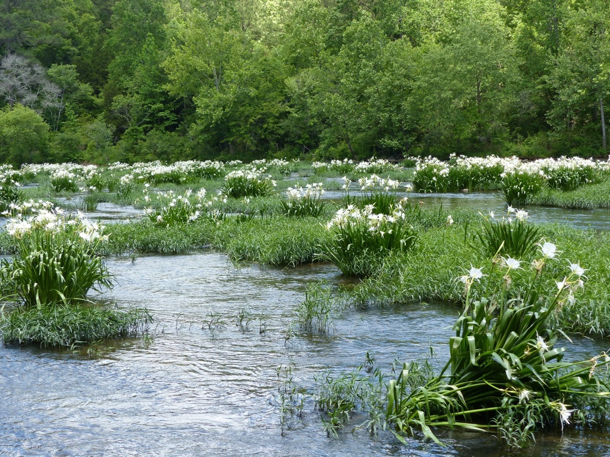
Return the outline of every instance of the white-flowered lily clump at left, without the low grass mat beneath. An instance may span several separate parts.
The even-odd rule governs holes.
[[[32,209],[32,216],[11,219],[6,231],[13,238],[16,256],[0,261],[0,280],[10,296],[26,308],[45,303],[75,303],[98,286],[112,287],[103,258],[97,252],[107,241],[104,227],[81,214],[65,216],[50,204]]]

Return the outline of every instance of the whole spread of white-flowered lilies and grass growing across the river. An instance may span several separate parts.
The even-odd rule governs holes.
[[[214,249],[236,266],[329,262],[346,284],[310,285],[284,342],[329,336],[354,308],[444,302],[461,310],[440,367],[415,361],[385,373],[370,359],[356,373],[321,377],[312,395],[329,436],[358,411],[369,414],[369,430],[390,428],[398,439],[417,431],[437,441],[440,428],[461,427],[493,431],[509,447],[525,446],[542,428],[605,423],[610,358],[567,363],[557,341],[562,332],[610,336],[608,232],[534,224],[535,207],[448,210],[418,202],[411,190],[446,178],[496,189],[501,202],[502,182],[519,173],[540,180],[536,196],[569,195],[605,185],[607,162],[452,157],[408,165],[414,169],[380,160],[5,167],[12,191],[0,232],[10,256],[0,264],[3,341],[73,347],[146,333],[148,310],[87,298],[112,287],[104,255],[137,261]],[[106,226],[91,222],[81,212],[95,217],[87,197],[132,212]],[[280,389],[295,394],[282,400],[282,421],[290,408],[304,408],[295,389]]]

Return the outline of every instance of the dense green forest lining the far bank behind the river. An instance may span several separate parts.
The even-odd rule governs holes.
[[[600,156],[609,29],[606,0],[0,0],[0,161]]]

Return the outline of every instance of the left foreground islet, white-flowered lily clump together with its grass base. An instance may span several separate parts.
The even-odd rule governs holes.
[[[90,289],[112,288],[112,274],[98,254],[108,240],[102,225],[44,201],[11,211],[6,231],[15,257],[0,261],[4,300],[15,308],[2,306],[5,342],[72,346],[146,330],[148,311],[99,308],[86,300]]]

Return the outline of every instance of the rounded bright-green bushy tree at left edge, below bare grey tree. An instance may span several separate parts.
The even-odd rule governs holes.
[[[21,165],[46,160],[49,125],[31,108],[16,104],[0,110],[0,161]]]

